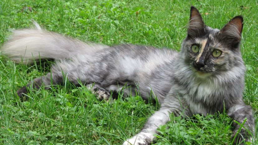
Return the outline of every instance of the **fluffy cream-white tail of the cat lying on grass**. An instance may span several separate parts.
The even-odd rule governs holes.
[[[14,30],[0,49],[15,62],[33,63],[39,59],[67,59],[78,54],[92,54],[107,46],[86,44],[57,33],[42,30],[33,21],[36,29]]]

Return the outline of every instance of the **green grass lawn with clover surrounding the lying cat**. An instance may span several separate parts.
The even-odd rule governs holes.
[[[244,101],[258,119],[257,1],[179,0],[2,0],[0,45],[9,30],[32,26],[79,40],[100,44],[144,44],[179,50],[186,36],[190,6],[200,11],[205,23],[222,28],[236,15],[244,17],[241,52],[246,64]],[[146,119],[158,110],[140,96],[107,103],[98,101],[84,85],[52,86],[16,96],[18,88],[50,71],[51,62],[33,66],[15,64],[0,54],[0,144],[121,144],[138,133]],[[232,144],[232,119],[224,112],[195,115],[160,126],[155,144]],[[258,136],[258,124],[254,136]],[[167,128],[169,126],[169,128]],[[257,141],[254,144],[258,144]]]

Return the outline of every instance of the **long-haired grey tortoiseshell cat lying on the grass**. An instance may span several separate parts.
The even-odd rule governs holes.
[[[242,16],[232,18],[221,30],[212,29],[192,6],[187,37],[180,52],[132,44],[84,43],[34,24],[36,29],[14,30],[3,44],[2,54],[17,63],[31,64],[39,58],[55,59],[56,63],[51,73],[20,88],[18,96],[24,96],[31,87],[39,89],[44,85],[48,89],[51,81],[62,84],[66,78],[75,85],[78,80],[85,83],[100,100],[108,100],[111,91],[127,86],[125,95],[135,95],[131,90],[137,90],[145,100],[156,98],[161,107],[141,132],[124,145],[150,144],[156,129],[170,121],[171,113],[206,115],[222,112],[224,108],[239,123],[247,118],[239,133],[240,125],[233,123],[234,143],[252,141],[255,126],[252,108],[242,99],[245,76],[240,52]]]

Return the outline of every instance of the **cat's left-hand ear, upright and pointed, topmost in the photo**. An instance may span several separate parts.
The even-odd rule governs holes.
[[[190,21],[187,34],[189,37],[198,37],[205,32],[203,18],[195,7],[191,7]]]

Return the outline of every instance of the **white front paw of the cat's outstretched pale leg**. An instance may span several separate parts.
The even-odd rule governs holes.
[[[151,139],[144,133],[139,133],[133,138],[127,139],[123,145],[149,145]]]

